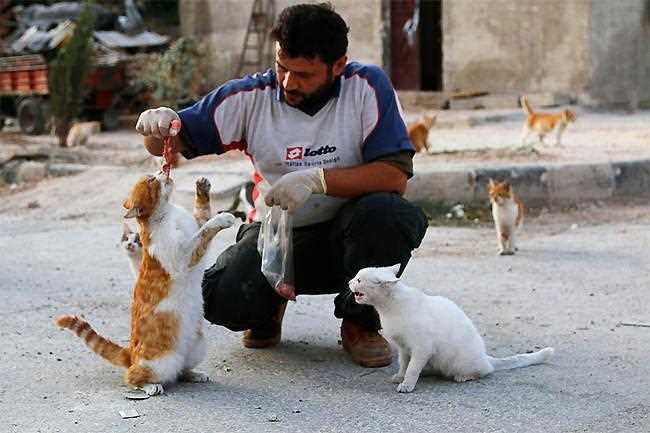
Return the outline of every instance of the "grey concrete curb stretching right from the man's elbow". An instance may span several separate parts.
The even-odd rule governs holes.
[[[650,192],[650,159],[598,164],[417,170],[405,197],[415,202],[480,203],[490,178],[510,180],[529,206],[569,205]]]

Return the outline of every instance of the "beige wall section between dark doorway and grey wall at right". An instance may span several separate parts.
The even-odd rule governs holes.
[[[581,93],[590,72],[590,4],[444,1],[444,88]]]

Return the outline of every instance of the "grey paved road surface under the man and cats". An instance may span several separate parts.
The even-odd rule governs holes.
[[[3,196],[2,431],[648,431],[650,329],[618,325],[650,322],[645,200],[544,213],[528,221],[514,257],[495,255],[489,225],[431,228],[415,253],[406,280],[462,305],[491,353],[552,345],[548,365],[466,384],[425,378],[401,395],[388,382],[395,364],[348,362],[332,296],[300,297],[277,348],[247,350],[239,334],[211,326],[201,367],[212,383],[131,402],[122,371],[52,320],[83,313],[126,342],[132,277],[117,241],[136,176],[95,169]],[[140,417],[122,419],[125,409]]]

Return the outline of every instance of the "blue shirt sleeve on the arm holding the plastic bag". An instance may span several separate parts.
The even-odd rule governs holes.
[[[386,73],[380,67],[373,65],[351,64],[350,66],[353,66],[350,75],[358,74],[366,79],[370,87],[375,90],[378,99],[379,119],[375,129],[363,143],[363,160],[370,162],[384,155],[402,151],[415,153],[397,107],[395,90]]]

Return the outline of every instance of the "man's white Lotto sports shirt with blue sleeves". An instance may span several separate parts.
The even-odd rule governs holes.
[[[384,71],[348,63],[333,96],[313,115],[288,105],[273,70],[231,80],[178,114],[186,157],[229,150],[253,162],[261,220],[264,192],[282,175],[310,167],[339,168],[413,151],[397,95]],[[327,221],[347,199],[312,195],[294,213],[296,227]]]

